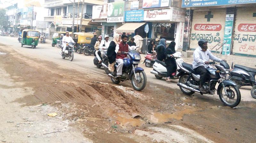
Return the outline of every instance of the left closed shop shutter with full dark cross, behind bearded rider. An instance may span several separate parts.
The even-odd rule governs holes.
[[[194,10],[191,25],[190,48],[196,49],[200,39],[208,41],[208,49],[215,51],[223,43],[226,19],[225,9]],[[219,49],[222,51],[222,48]],[[219,51],[218,50],[218,51]]]

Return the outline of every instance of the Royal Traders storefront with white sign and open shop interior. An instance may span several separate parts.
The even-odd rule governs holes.
[[[144,20],[151,21],[151,37],[164,38],[167,43],[176,42],[176,49],[182,48],[184,36],[185,10],[168,7],[144,10]]]

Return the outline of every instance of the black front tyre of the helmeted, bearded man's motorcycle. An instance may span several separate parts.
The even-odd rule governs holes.
[[[221,102],[223,102],[224,105],[233,108],[233,107],[236,107],[236,106],[240,103],[240,101],[241,101],[241,93],[240,93],[239,88],[238,88],[237,86],[229,85],[229,88],[230,88],[230,87],[232,87],[234,90],[231,91],[231,89],[227,89],[227,92],[229,92],[229,93],[232,92],[233,94],[236,92],[237,98],[236,98],[236,102],[235,102],[235,103],[233,103],[233,104],[228,104],[226,101],[224,101],[224,97],[223,97],[223,92],[224,92],[224,91],[223,91],[223,86],[220,87],[219,97],[220,97]],[[218,88],[218,89],[219,89],[219,88]],[[230,90],[230,91],[228,91],[228,90]],[[223,92],[222,92],[222,91],[223,91]],[[224,93],[225,93],[225,92],[224,92]],[[227,97],[227,100],[228,100],[228,97]]]

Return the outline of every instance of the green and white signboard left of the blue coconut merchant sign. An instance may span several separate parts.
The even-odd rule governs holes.
[[[107,22],[124,22],[124,1],[108,3]]]

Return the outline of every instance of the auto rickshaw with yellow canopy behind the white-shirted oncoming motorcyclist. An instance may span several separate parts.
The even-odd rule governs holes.
[[[76,42],[76,48],[74,48],[75,52],[81,54],[84,50],[84,45],[90,44],[93,36],[94,35],[92,33],[75,32],[73,39]]]

